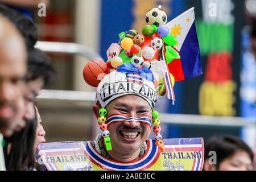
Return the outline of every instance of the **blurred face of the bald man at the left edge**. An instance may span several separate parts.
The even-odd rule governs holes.
[[[24,93],[26,49],[16,36],[0,42],[0,131],[13,132],[13,118],[19,112],[20,98]],[[15,52],[14,52],[15,49]],[[13,123],[14,124],[14,123]]]

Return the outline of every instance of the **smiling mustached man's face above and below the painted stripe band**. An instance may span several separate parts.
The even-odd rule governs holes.
[[[151,107],[139,96],[127,95],[110,102],[106,107],[108,115],[119,114],[125,117],[151,117]],[[139,155],[140,147],[150,137],[150,126],[137,121],[121,121],[108,126],[113,150],[111,155]]]

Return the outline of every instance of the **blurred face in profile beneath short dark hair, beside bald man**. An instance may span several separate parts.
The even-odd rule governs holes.
[[[35,118],[35,100],[40,90],[43,89],[43,85],[44,81],[42,77],[27,82],[26,93],[24,94],[26,104],[26,113],[24,114],[24,119],[27,121]]]

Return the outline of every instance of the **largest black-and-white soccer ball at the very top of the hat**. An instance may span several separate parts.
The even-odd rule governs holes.
[[[166,24],[167,15],[166,13],[157,7],[147,11],[146,13],[146,23],[154,24],[156,27]]]

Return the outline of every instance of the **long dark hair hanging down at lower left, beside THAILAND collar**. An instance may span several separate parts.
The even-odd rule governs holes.
[[[5,138],[6,145],[3,151],[8,171],[32,170],[35,167],[34,145],[37,126],[38,118],[35,114],[35,118],[27,121],[24,129],[14,133],[10,138]]]

